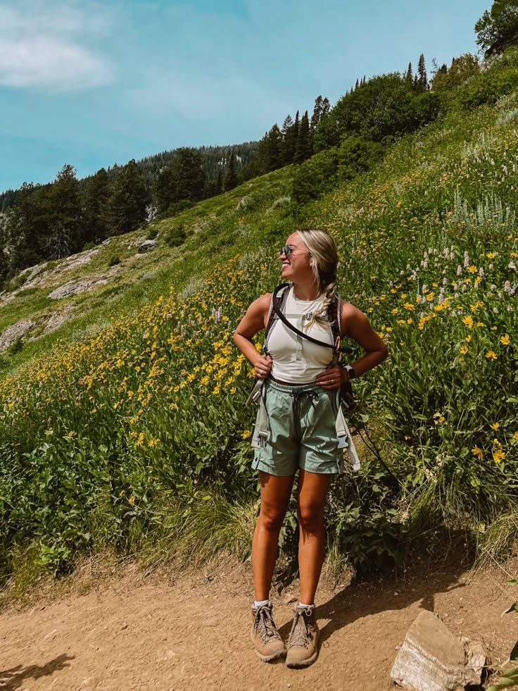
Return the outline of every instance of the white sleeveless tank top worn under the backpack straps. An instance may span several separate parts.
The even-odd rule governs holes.
[[[293,296],[293,286],[286,295],[283,313],[298,330],[324,343],[332,344],[331,325],[314,322],[308,328],[312,312],[322,305],[324,296],[316,300],[299,300]],[[277,318],[268,335],[268,352],[272,356],[272,377],[292,384],[309,384],[315,381],[331,363],[331,348],[317,345],[291,331]]]

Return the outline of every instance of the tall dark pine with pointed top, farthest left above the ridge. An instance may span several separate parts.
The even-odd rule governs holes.
[[[83,245],[81,204],[75,168],[66,163],[49,190],[49,236],[44,249],[49,259],[61,259]]]

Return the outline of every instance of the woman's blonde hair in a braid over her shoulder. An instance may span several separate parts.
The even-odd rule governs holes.
[[[308,325],[315,320],[324,321],[327,309],[336,293],[336,270],[338,269],[338,252],[334,237],[327,230],[301,228],[296,231],[310,252],[311,266],[315,275],[318,292],[324,292],[324,301],[318,312],[312,316]]]

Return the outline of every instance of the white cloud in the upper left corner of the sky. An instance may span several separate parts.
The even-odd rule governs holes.
[[[101,7],[25,0],[0,3],[0,16],[0,85],[70,91],[113,82],[113,67],[88,45],[109,31]]]

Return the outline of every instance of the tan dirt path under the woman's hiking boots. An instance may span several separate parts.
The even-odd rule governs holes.
[[[518,565],[517,565],[518,566]],[[248,637],[251,576],[232,564],[208,575],[153,583],[134,572],[84,595],[0,614],[0,689],[384,691],[398,645],[422,609],[453,633],[484,639],[503,662],[518,639],[518,615],[500,618],[516,588],[503,571],[470,574],[452,564],[415,565],[404,578],[339,586],[322,583],[320,657],[295,671],[255,658]],[[289,589],[275,597],[284,638]]]

